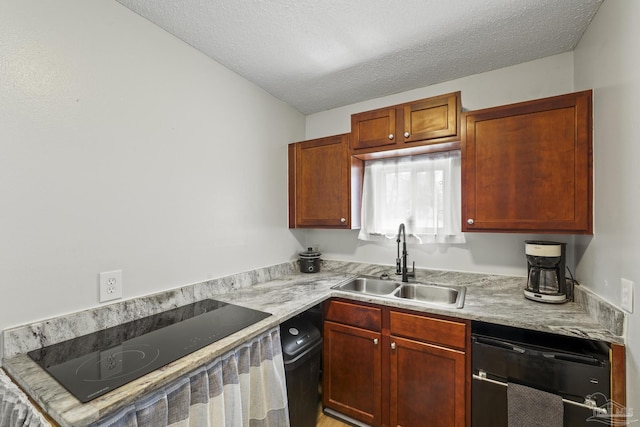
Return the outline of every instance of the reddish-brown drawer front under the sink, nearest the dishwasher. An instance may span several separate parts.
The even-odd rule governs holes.
[[[445,319],[391,311],[391,334],[447,347],[465,348],[466,325]]]

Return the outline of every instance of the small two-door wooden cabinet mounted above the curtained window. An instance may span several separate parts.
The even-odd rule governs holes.
[[[366,157],[382,151],[415,150],[459,141],[460,112],[460,92],[455,92],[353,114],[351,152]]]

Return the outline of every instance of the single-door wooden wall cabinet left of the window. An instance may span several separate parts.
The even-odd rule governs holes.
[[[289,228],[358,228],[362,167],[349,134],[289,144]]]

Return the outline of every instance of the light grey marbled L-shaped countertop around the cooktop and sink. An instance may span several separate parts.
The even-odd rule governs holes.
[[[580,287],[576,287],[576,302],[540,304],[524,298],[522,289],[526,279],[522,277],[419,270],[418,281],[466,286],[464,307],[455,309],[332,289],[354,275],[380,276],[386,272],[393,278],[393,267],[323,261],[323,271],[319,273],[298,273],[296,269],[295,262],[286,263],[5,330],[3,368],[57,423],[85,426],[330,297],[573,337],[624,342],[624,315]],[[265,311],[272,316],[85,404],[26,354],[35,348],[205,298]]]

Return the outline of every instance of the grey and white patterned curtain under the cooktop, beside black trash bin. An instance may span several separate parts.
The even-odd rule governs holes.
[[[278,327],[93,427],[289,427]]]

